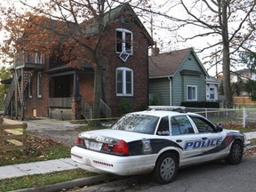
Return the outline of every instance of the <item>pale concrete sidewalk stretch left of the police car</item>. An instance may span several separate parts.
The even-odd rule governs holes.
[[[76,164],[71,158],[60,158],[49,161],[40,161],[28,164],[14,164],[0,166],[0,180],[21,177],[33,174],[45,174],[49,172],[60,172],[72,169],[85,169],[90,172],[98,172],[90,166]],[[100,172],[98,172],[100,173]]]

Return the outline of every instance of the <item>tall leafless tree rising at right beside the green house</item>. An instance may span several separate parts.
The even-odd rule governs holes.
[[[171,5],[167,5],[170,3]],[[180,28],[190,27],[196,30],[195,34],[176,34],[182,41],[195,40],[204,41],[208,44],[198,52],[211,51],[208,58],[210,64],[222,64],[223,88],[228,108],[232,107],[232,90],[230,84],[230,68],[237,66],[237,52],[247,41],[252,38],[255,28],[255,1],[252,0],[196,0],[196,1],[165,1],[166,11],[162,15],[172,20],[172,26],[168,29],[172,32],[179,31]],[[173,15],[176,10],[185,13]],[[181,12],[181,11],[180,11]],[[157,12],[156,12],[157,13]],[[188,15],[188,17],[187,17]],[[212,39],[210,39],[212,38]],[[206,39],[207,40],[207,39]],[[212,51],[213,50],[213,51]],[[214,58],[218,60],[215,61]]]

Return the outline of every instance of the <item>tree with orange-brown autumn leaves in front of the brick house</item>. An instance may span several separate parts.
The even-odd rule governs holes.
[[[94,68],[92,118],[99,118],[104,67],[102,50],[113,42],[102,38],[108,33],[106,19],[110,18],[110,11],[117,5],[130,1],[52,0],[39,2],[36,6],[25,0],[19,2],[22,7],[29,8],[30,12],[18,12],[14,7],[2,9],[4,18],[6,17],[2,24],[11,32],[2,50],[11,56],[13,52],[22,50],[36,50],[47,54],[61,50],[61,60],[74,68],[81,68],[84,62],[90,64]],[[143,2],[144,0],[138,0],[134,6]],[[108,25],[111,23],[108,22]],[[13,44],[13,50],[10,49],[10,44]]]

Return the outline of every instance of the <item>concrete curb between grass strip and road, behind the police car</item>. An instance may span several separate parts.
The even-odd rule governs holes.
[[[75,188],[75,187],[84,187],[86,185],[92,185],[95,183],[103,182],[104,180],[116,180],[117,178],[120,178],[116,175],[111,174],[100,174],[92,177],[87,178],[81,178],[76,180],[69,180],[66,182],[60,182],[40,188],[23,188],[14,190],[14,192],[52,192],[52,191],[61,191],[61,189],[69,189],[69,188]]]

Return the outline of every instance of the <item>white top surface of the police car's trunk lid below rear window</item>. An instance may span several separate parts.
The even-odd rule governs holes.
[[[84,139],[94,139],[101,142],[104,142],[107,140],[124,140],[125,142],[131,142],[132,140],[142,140],[144,138],[151,139],[154,137],[154,135],[143,134],[138,132],[127,132],[127,131],[121,131],[121,130],[103,129],[103,130],[82,132],[79,134],[79,137]]]

